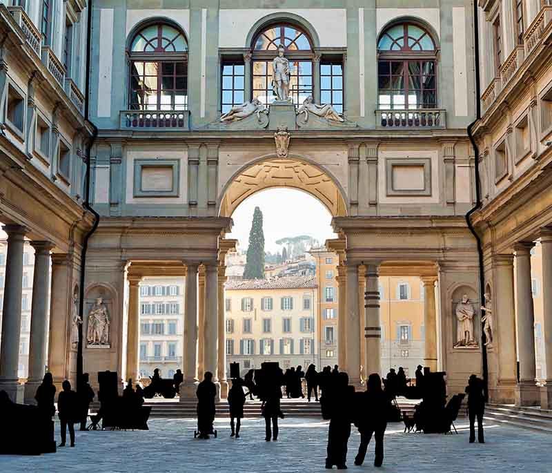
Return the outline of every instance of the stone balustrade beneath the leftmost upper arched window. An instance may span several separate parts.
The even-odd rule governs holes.
[[[132,130],[188,130],[188,110],[121,110],[121,128]]]

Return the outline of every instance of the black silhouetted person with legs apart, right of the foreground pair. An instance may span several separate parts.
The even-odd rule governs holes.
[[[375,437],[374,466],[380,467],[384,461],[384,434],[387,416],[391,409],[391,400],[382,390],[382,379],[377,373],[368,376],[366,392],[360,396],[357,406],[357,427],[360,432],[360,445],[355,465],[362,465],[368,443]]]

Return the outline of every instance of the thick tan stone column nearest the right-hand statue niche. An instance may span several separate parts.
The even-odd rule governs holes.
[[[498,358],[498,377],[493,401],[513,403],[517,385],[513,255],[494,255],[492,264],[494,279],[493,350]]]

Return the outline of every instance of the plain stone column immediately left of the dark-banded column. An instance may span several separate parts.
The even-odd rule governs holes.
[[[359,311],[358,311],[358,266],[356,263],[347,262],[347,345],[346,371],[349,375],[349,384],[360,385],[360,337]]]

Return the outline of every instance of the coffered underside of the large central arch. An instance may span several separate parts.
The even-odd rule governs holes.
[[[304,157],[259,157],[228,179],[219,199],[218,215],[230,217],[247,197],[275,187],[290,187],[316,197],[333,217],[346,217],[342,187],[328,171]]]

